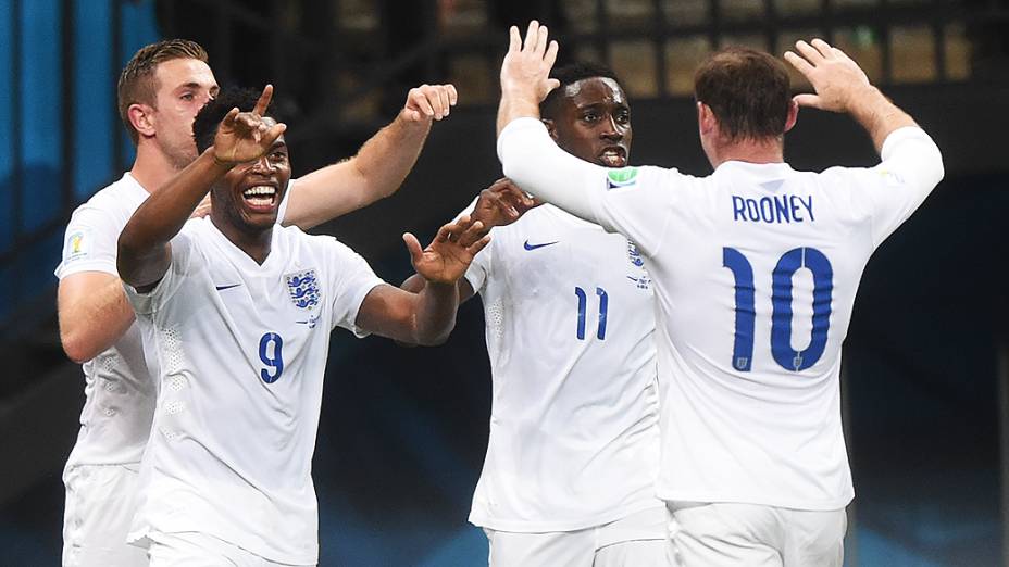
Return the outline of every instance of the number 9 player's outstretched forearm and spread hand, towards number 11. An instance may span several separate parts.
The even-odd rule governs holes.
[[[424,278],[416,292],[393,286],[373,289],[358,311],[357,327],[409,344],[439,344],[456,326],[458,281],[490,237],[483,225],[462,216],[438,230],[421,249],[413,235],[403,235],[411,262]]]

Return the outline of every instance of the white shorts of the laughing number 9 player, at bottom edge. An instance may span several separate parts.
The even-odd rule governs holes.
[[[148,538],[150,567],[289,567],[204,533],[152,533]]]

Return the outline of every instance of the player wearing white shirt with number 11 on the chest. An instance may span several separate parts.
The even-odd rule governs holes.
[[[626,165],[631,109],[613,72],[553,76],[541,108],[558,144]],[[470,521],[493,567],[664,565],[648,273],[626,238],[532,204],[500,179],[470,207],[494,227],[459,282],[460,301],[483,300],[494,392]]]

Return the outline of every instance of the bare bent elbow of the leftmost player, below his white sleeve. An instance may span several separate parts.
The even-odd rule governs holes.
[[[70,298],[61,288],[57,311],[63,351],[78,364],[112,346],[135,319],[122,280],[111,275],[84,295]]]

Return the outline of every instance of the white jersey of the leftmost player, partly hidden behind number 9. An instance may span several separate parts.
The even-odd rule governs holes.
[[[286,211],[288,193],[289,188],[278,218]],[[115,256],[120,232],[149,194],[127,172],[78,206],[66,226],[63,259],[55,276],[63,279],[82,272],[104,272],[119,277]],[[86,400],[67,468],[140,463],[155,394],[136,324],[83,368]]]

